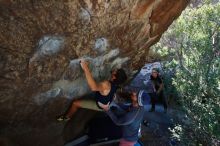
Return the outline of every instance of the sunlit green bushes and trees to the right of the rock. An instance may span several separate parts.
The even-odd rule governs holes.
[[[195,140],[220,139],[220,4],[187,8],[154,46],[175,71],[172,84]]]

